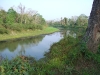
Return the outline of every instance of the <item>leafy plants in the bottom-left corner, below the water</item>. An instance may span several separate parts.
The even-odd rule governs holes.
[[[13,60],[4,60],[0,66],[0,74],[5,75],[29,75],[31,71],[34,70],[34,67],[31,67],[28,57],[19,56]],[[35,60],[34,60],[35,61]]]

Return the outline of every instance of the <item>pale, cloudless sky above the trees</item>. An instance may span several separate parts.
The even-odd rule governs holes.
[[[93,0],[1,0],[0,7],[7,11],[20,3],[27,9],[38,11],[46,20],[54,20],[81,14],[89,16]]]

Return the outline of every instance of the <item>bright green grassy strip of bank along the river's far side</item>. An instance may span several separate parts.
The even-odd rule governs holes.
[[[37,36],[41,34],[49,34],[59,31],[57,28],[53,27],[46,27],[43,30],[27,30],[27,31],[22,31],[22,32],[13,32],[11,34],[0,34],[0,41],[6,41],[10,39],[18,39],[18,38],[23,38],[23,37],[30,37],[30,36]]]

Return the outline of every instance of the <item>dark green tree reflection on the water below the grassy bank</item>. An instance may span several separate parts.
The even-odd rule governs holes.
[[[37,45],[40,41],[42,41],[44,36],[36,36],[32,38],[24,38],[20,40],[11,40],[8,42],[1,42],[0,43],[0,51],[3,52],[5,49],[8,49],[10,52],[14,52],[17,48],[18,45]]]

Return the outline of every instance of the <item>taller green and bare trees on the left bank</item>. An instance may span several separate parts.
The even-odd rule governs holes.
[[[8,11],[0,8],[0,34],[8,34],[10,31],[43,29],[45,19],[37,11],[27,9],[19,4],[17,10],[13,7]]]

